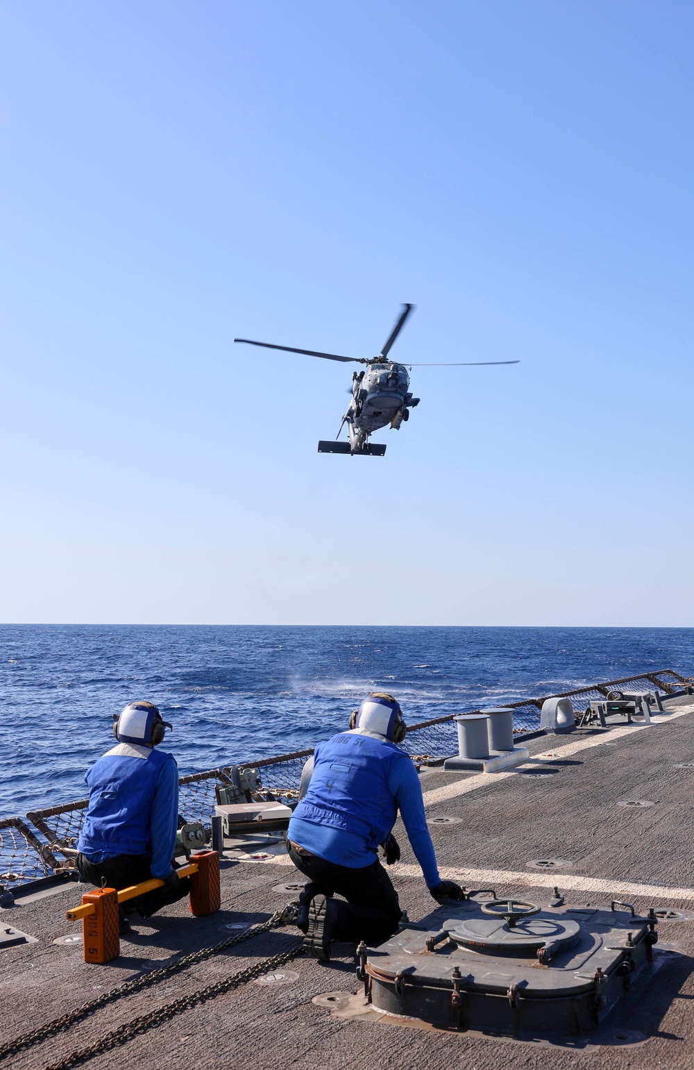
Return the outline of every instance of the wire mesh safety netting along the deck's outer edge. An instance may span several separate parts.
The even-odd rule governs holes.
[[[606,681],[570,691],[555,692],[555,698],[570,698],[576,714],[590,708],[593,699],[605,699],[622,688],[626,690],[657,692],[666,697],[692,684],[673,669],[641,673],[621,679]],[[513,709],[513,732],[516,737],[539,731],[540,712],[544,699],[518,699],[504,705]],[[479,713],[479,710],[466,710]],[[403,749],[417,765],[443,762],[458,753],[458,733],[452,714],[420,721],[407,728]],[[181,777],[179,780],[180,812],[186,822],[210,824],[214,813],[218,785],[232,782],[231,770],[253,769],[258,789],[252,797],[293,801],[298,797],[302,769],[313,749],[292,751],[275,758],[235,762],[233,765],[206,769]],[[63,806],[34,810],[21,817],[0,821],[0,892],[13,885],[24,884],[52,872],[70,870],[75,866],[79,836],[88,799],[66,802]],[[27,824],[29,822],[33,829]]]

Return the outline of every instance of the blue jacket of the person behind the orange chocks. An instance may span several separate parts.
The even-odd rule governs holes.
[[[119,744],[88,769],[89,809],[77,850],[91,861],[117,855],[150,857],[152,876],[171,872],[179,815],[173,754]]]

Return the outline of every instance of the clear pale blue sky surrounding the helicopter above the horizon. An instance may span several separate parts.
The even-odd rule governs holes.
[[[0,617],[692,621],[694,9],[0,2]],[[401,302],[421,403],[323,456]]]

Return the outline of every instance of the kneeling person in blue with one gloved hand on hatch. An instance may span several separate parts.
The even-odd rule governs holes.
[[[307,763],[288,830],[288,851],[308,878],[299,897],[297,924],[307,950],[330,958],[334,939],[380,944],[398,928],[398,893],[381,866],[400,858],[392,826],[402,814],[407,837],[431,895],[462,899],[452,881],[442,881],[427,827],[421,786],[412,759],[398,744],[405,736],[402,710],[391,694],[373,692],[350,719],[350,731],[321,743]],[[311,760],[309,759],[309,762]],[[346,902],[333,898],[343,896]]]

